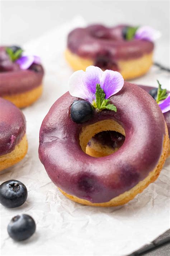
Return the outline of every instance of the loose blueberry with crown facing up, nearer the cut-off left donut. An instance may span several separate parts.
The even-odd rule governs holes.
[[[0,185],[0,203],[8,208],[23,205],[28,192],[25,185],[18,180],[7,180]]]

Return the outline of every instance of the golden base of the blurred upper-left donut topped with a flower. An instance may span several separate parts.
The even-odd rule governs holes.
[[[2,98],[9,100],[18,108],[24,108],[33,104],[42,94],[43,86],[39,85],[38,87],[25,91],[24,93],[4,95]]]

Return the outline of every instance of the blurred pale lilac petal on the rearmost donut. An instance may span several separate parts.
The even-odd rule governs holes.
[[[135,39],[148,40],[154,42],[161,36],[160,31],[155,30],[150,26],[139,27],[134,35]]]

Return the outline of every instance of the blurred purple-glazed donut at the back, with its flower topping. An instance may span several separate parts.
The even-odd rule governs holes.
[[[94,65],[119,71],[129,80],[142,76],[152,66],[154,41],[159,36],[149,26],[95,24],[76,28],[68,35],[65,58],[74,71]]]

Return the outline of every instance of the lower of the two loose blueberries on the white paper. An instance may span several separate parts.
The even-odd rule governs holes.
[[[27,215],[21,214],[13,217],[8,224],[8,234],[16,241],[22,241],[31,237],[36,230],[34,219]]]

